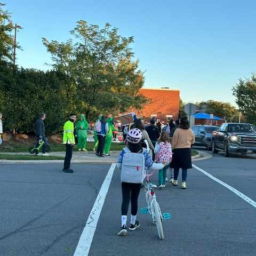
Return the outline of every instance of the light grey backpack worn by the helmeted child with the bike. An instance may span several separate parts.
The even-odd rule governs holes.
[[[128,183],[143,183],[146,177],[145,171],[145,153],[146,149],[143,148],[142,153],[131,153],[129,148],[124,148],[125,154],[123,155],[122,169],[121,169],[121,182]]]

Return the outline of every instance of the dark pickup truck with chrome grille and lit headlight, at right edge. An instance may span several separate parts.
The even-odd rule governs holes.
[[[253,124],[223,123],[212,132],[212,153],[256,154],[256,127]]]

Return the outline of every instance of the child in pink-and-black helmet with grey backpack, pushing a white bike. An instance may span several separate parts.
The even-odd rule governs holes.
[[[122,182],[122,227],[117,233],[123,236],[127,233],[126,221],[129,204],[131,201],[131,223],[130,230],[135,230],[140,226],[137,217],[138,197],[140,194],[141,183],[145,178],[145,167],[148,169],[163,169],[166,162],[154,163],[146,149],[141,146],[142,132],[135,128],[127,134],[127,145],[120,153],[117,160],[117,167],[121,169]]]

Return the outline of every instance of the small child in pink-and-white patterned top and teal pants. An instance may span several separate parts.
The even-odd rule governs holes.
[[[160,138],[156,142],[155,146],[156,162],[161,163],[163,161],[172,162],[172,146],[169,142],[169,136],[166,131],[162,132]],[[159,170],[158,174],[158,189],[165,187],[165,178],[168,165],[164,166],[163,169]]]

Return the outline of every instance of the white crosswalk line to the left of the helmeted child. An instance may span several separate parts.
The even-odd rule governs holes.
[[[92,207],[92,211],[86,221],[83,233],[79,239],[74,256],[86,256],[89,254],[92,239],[97,227],[98,220],[100,218],[102,206],[108,193],[108,188],[113,177],[115,167],[116,164],[111,165],[108,174],[101,186],[97,199]]]

